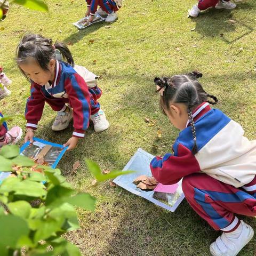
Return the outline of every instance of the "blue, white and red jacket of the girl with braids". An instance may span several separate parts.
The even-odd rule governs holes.
[[[235,187],[251,182],[256,174],[256,140],[249,141],[241,125],[211,109],[209,103],[198,106],[193,116],[198,153],[191,153],[193,134],[187,123],[173,145],[173,154],[151,161],[156,180],[173,184],[191,173],[203,172]]]

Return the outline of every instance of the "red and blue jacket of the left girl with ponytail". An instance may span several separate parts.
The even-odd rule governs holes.
[[[51,85],[47,83],[41,86],[33,81],[31,83],[30,97],[27,100],[25,111],[26,127],[37,129],[45,100],[49,102],[61,98],[73,107],[73,136],[83,138],[90,118],[90,94],[86,81],[89,87],[94,87],[97,85],[97,78],[84,67],[75,65],[73,68],[66,62],[57,60]]]

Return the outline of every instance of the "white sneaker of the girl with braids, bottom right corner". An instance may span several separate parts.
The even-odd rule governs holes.
[[[253,229],[241,220],[242,231],[237,238],[234,238],[234,233],[222,233],[215,242],[210,246],[210,252],[213,256],[236,256],[242,248],[249,243],[253,237]],[[239,225],[239,226],[240,226]],[[239,227],[238,227],[239,228]]]

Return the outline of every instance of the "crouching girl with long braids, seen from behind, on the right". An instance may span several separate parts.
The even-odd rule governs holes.
[[[235,214],[256,216],[256,140],[209,103],[193,73],[155,78],[160,106],[181,130],[173,154],[155,157],[155,179],[165,185],[182,180],[188,203],[215,230],[223,233],[211,244],[212,255],[234,256],[253,237],[253,229]],[[207,98],[214,101],[209,101]]]

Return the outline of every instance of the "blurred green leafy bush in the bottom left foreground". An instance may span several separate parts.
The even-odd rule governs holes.
[[[74,189],[59,169],[19,155],[18,146],[4,146],[0,163],[1,172],[11,172],[0,185],[1,256],[21,255],[21,250],[28,256],[81,255],[61,235],[79,228],[75,207],[94,211],[95,198]],[[121,174],[101,174],[96,163],[89,159],[86,163],[98,181]]]

